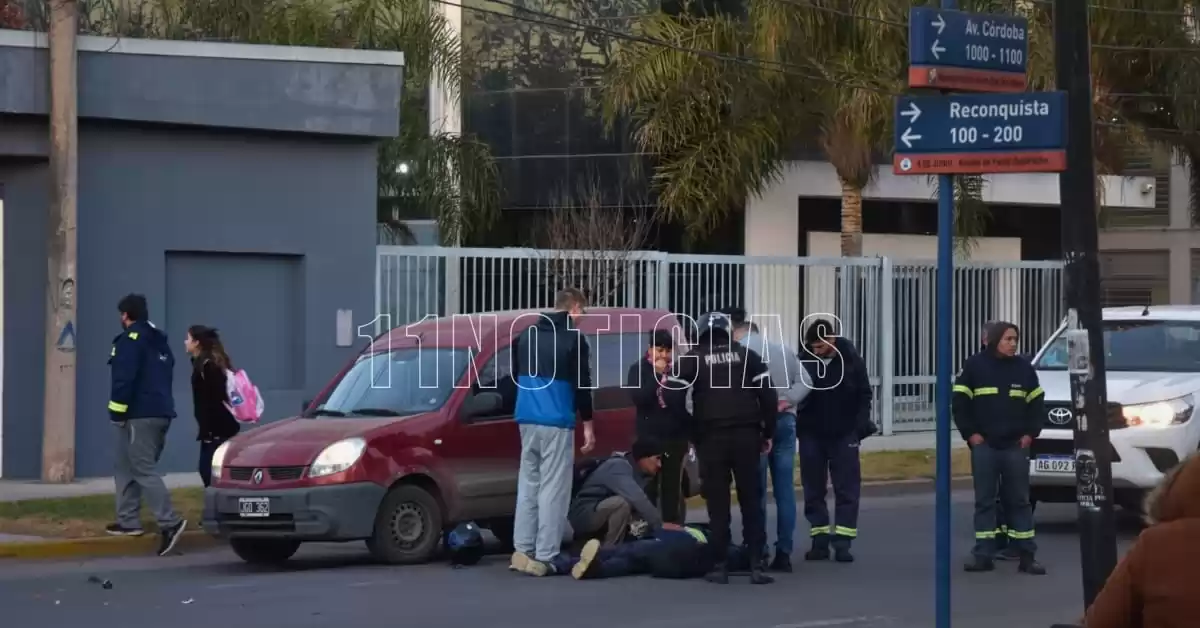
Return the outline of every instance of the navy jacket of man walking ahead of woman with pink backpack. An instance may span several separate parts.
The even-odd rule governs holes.
[[[108,364],[113,376],[109,419],[175,418],[175,355],[167,334],[149,321],[134,322],[113,339]]]

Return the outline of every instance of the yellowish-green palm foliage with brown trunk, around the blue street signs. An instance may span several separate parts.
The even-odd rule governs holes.
[[[895,95],[905,91],[907,12],[902,0],[755,0],[742,14],[646,16],[640,35],[664,44],[620,49],[606,82],[606,115],[631,116],[643,150],[660,156],[654,183],[667,216],[695,231],[779,178],[792,146],[816,139],[841,184],[841,252],[862,255],[862,191],[876,156],[892,149]],[[1153,47],[1186,38],[1188,0],[1163,0],[1178,14],[1134,14],[1138,0],[1099,2],[1093,42]],[[853,7],[850,12],[846,7]],[[1012,12],[1031,20],[1031,89],[1054,89],[1052,16],[1044,2],[977,0],[964,8]],[[1172,91],[1192,55],[1159,54],[1130,65],[1098,47],[1093,55],[1099,172],[1120,172],[1145,139],[1145,116],[1120,94]],[[698,50],[698,53],[696,52]],[[1146,53],[1147,56],[1153,53]],[[1140,80],[1140,83],[1139,83]],[[1177,84],[1177,83],[1176,83]],[[1189,83],[1195,84],[1195,83]],[[1194,100],[1193,103],[1194,110]],[[1180,103],[1178,106],[1182,106]],[[1122,114],[1124,112],[1124,114]],[[1200,140],[1196,142],[1200,150]],[[982,233],[982,179],[955,177],[960,237]]]

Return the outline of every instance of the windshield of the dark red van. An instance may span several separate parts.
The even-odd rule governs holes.
[[[467,349],[402,348],[362,355],[311,412],[317,417],[403,417],[445,405],[462,379]]]

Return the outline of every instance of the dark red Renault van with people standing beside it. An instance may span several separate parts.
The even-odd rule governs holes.
[[[485,312],[377,337],[304,415],[248,430],[212,457],[204,530],[242,560],[275,563],[304,542],[366,540],[380,561],[416,563],[460,521],[511,543],[521,441],[510,345],[538,312]],[[635,409],[622,385],[666,310],[592,309],[596,448],[628,450]],[[679,337],[679,336],[676,336]],[[578,433],[582,444],[582,431]],[[689,456],[684,491],[698,494]]]

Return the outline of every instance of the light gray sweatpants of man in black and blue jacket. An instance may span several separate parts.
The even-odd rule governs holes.
[[[550,562],[566,532],[575,477],[575,430],[521,425],[521,471],[512,546]]]

